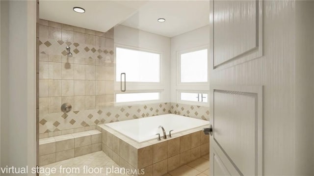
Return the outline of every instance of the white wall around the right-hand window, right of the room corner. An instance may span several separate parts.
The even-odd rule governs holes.
[[[177,102],[177,89],[209,91],[209,84],[180,87],[177,85],[177,52],[205,45],[209,45],[209,25],[171,38],[171,102]]]

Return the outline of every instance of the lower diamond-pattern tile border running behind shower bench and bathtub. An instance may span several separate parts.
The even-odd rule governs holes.
[[[53,137],[95,129],[99,124],[168,113],[209,120],[209,107],[205,106],[172,102],[123,107],[110,106],[103,109],[46,114],[39,119],[39,133],[40,138]]]

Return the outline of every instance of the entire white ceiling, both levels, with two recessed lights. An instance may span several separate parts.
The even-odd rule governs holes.
[[[73,7],[86,11],[76,13]],[[105,32],[121,24],[173,37],[209,24],[208,0],[40,0],[39,18]],[[165,18],[166,22],[157,22]]]

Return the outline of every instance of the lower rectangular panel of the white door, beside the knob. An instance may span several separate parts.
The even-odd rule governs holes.
[[[211,87],[210,93],[212,95],[210,102],[213,105],[211,109],[212,117],[210,118],[213,126],[211,150],[220,153],[219,156],[222,162],[229,165],[227,166],[228,171],[233,170],[232,175],[262,176],[263,86],[214,86]],[[219,106],[221,107],[220,110]],[[228,126],[228,123],[231,125]],[[222,129],[224,131],[221,131]],[[234,136],[232,136],[233,134]],[[231,138],[229,139],[228,136],[231,136]],[[237,140],[237,137],[239,140]],[[245,140],[241,143],[240,139],[242,137],[245,137]],[[243,154],[240,158],[239,153],[235,153],[233,150],[242,150],[242,154],[248,153],[246,156]],[[254,155],[254,158],[250,158],[250,155]],[[214,158],[212,159],[214,160]],[[245,162],[254,162],[252,164],[254,171],[253,169],[241,170],[241,165],[243,167]]]

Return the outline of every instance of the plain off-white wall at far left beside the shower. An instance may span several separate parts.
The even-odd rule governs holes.
[[[0,64],[1,167],[35,167],[36,1],[1,1],[1,51],[4,49]]]

